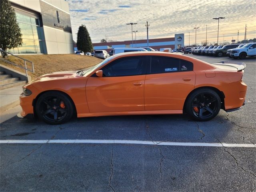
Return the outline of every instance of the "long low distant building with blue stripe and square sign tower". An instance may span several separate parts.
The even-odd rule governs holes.
[[[105,42],[105,43],[93,43],[94,50],[106,50],[110,51],[114,48],[124,48],[124,47],[151,47],[153,49],[160,48],[180,48],[184,47],[184,33],[175,34],[174,37],[170,38],[159,38],[159,39],[149,39],[147,40],[131,40],[131,41],[119,41],[119,42]],[[133,42],[133,44],[132,44]]]

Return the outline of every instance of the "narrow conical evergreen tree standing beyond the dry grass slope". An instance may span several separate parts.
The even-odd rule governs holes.
[[[76,46],[84,53],[93,51],[92,40],[85,25],[78,28]]]

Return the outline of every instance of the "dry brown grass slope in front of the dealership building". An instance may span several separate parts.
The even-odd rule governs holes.
[[[35,72],[28,72],[32,80],[43,74],[58,72],[58,71],[69,71],[69,70],[80,70],[90,66],[94,66],[102,59],[98,59],[92,56],[76,55],[76,54],[58,54],[58,55],[21,55],[20,57],[34,62]],[[23,60],[14,56],[8,56],[6,60],[14,62],[20,66],[24,66]],[[0,60],[0,64],[18,70],[25,73],[25,70],[17,66],[8,64]],[[27,63],[27,67],[32,69],[30,63]]]

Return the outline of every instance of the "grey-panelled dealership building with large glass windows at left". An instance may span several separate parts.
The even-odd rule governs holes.
[[[65,0],[10,0],[22,33],[14,54],[74,53],[68,2]]]

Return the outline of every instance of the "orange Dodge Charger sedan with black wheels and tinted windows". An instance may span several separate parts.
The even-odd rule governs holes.
[[[116,54],[88,70],[55,72],[23,87],[20,117],[49,124],[72,116],[183,114],[214,118],[244,105],[245,64],[209,64],[166,52]]]

